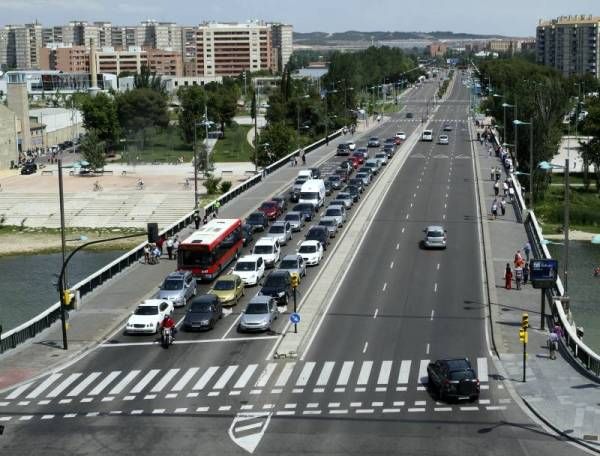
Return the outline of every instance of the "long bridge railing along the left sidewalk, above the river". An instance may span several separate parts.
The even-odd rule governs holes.
[[[334,131],[329,135],[329,140],[335,139],[341,134],[341,129]],[[323,138],[310,144],[309,146],[304,148],[304,153],[310,153],[311,151],[325,144],[325,142],[327,142],[327,139]],[[291,158],[295,155],[298,155],[299,153],[300,149],[297,149],[292,153],[286,155],[281,160],[278,160],[277,162],[267,166],[262,173],[256,174],[255,176],[245,180],[244,182],[237,185],[224,195],[217,198],[212,203],[207,204],[204,207],[204,210],[206,211],[206,213],[211,213],[214,210],[214,204],[216,201],[219,201],[219,203],[223,205],[228,201],[231,201],[232,199],[236,198],[240,194],[244,193],[249,188],[260,184],[266,176],[285,166],[286,164],[289,164]],[[171,236],[175,233],[178,233],[183,228],[193,223],[193,215],[194,211],[190,211],[180,220],[160,231],[159,235]],[[78,293],[79,298],[81,298],[85,294],[91,292],[98,286],[105,283],[107,280],[113,278],[115,275],[123,272],[132,264],[138,263],[139,259],[144,255],[145,244],[146,241],[140,243],[138,246],[134,247],[129,252],[123,254],[113,262],[109,263],[108,265],[89,275],[85,279],[71,286],[70,289]],[[15,348],[17,345],[25,342],[27,339],[35,337],[43,330],[49,328],[56,320],[59,319],[59,317],[60,302],[57,302],[56,304],[53,304],[48,309],[36,315],[29,321],[26,321],[25,323],[17,326],[16,328],[11,329],[10,331],[2,333],[0,335],[0,353],[4,353],[7,350]]]

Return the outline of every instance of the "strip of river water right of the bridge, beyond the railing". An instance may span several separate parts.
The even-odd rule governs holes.
[[[550,254],[558,260],[563,278],[563,246],[548,245]],[[577,326],[583,326],[583,340],[600,353],[600,277],[594,277],[594,267],[600,266],[600,245],[590,242],[569,242],[569,296],[571,312]]]

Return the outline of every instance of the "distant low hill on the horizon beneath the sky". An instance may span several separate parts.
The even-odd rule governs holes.
[[[344,41],[396,41],[396,40],[477,40],[505,38],[502,35],[476,35],[472,33],[454,33],[449,31],[436,32],[294,32],[294,42],[297,44],[328,44]]]

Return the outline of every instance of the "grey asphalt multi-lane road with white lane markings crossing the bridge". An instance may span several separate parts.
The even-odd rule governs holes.
[[[411,92],[370,135],[414,133],[436,89]],[[452,126],[450,144],[410,151],[301,358],[265,359],[285,315],[273,333],[236,332],[258,291],[250,288],[214,331],[180,333],[168,351],[118,332],[62,371],[1,395],[3,454],[574,454],[521,412],[488,351],[467,107],[458,78],[428,121],[434,139]],[[429,224],[446,227],[446,250],[421,248]],[[428,360],[456,356],[477,367],[474,403],[439,403],[427,389]]]

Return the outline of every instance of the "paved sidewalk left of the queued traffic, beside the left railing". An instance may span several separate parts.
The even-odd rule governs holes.
[[[361,129],[360,134],[357,132],[352,137],[356,140],[366,136],[378,125],[372,124],[368,129]],[[340,141],[348,138],[348,135],[342,135],[331,140],[328,146],[307,153],[306,166],[318,166],[335,152]],[[223,205],[219,215],[223,218],[246,217],[262,201],[289,187],[299,168],[279,168],[260,185]],[[180,238],[184,238],[190,230],[188,227],[180,232]],[[84,296],[81,309],[70,314],[68,350],[62,349],[62,330],[60,321],[57,321],[36,337],[0,354],[0,391],[71,362],[108,339],[124,324],[136,305],[151,297],[156,292],[156,286],[175,268],[175,262],[164,257],[158,265],[136,264]]]

